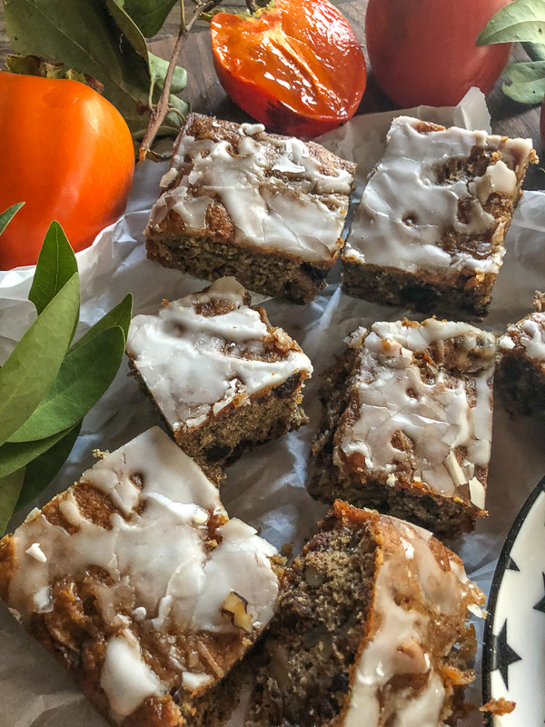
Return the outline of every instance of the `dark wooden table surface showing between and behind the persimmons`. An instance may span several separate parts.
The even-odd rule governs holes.
[[[352,29],[365,51],[364,19],[367,0],[333,0],[348,18]],[[223,7],[241,5],[242,0],[228,0]],[[188,3],[191,12],[193,4]],[[156,55],[170,58],[175,36],[178,33],[179,11],[173,10],[159,35],[149,41],[150,49]],[[0,67],[4,67],[5,56],[10,53],[9,41],[5,33],[4,15],[0,5]],[[511,60],[528,60],[523,48],[515,45]],[[188,71],[188,86],[184,97],[194,111],[217,115],[220,118],[243,121],[248,117],[225,95],[213,70],[210,32],[205,23],[194,26],[193,32],[183,48],[179,64]],[[501,92],[501,79],[488,97],[492,119],[492,130],[496,134],[509,136],[530,136],[534,148],[545,160],[545,151],[540,143],[540,108],[520,105]],[[395,108],[381,92],[370,73],[358,114],[386,111]],[[532,165],[524,183],[525,189],[545,189],[545,172],[540,164]]]

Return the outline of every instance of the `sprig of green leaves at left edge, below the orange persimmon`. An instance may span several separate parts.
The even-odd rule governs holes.
[[[0,214],[0,234],[18,206]],[[0,368],[0,534],[14,511],[53,479],[84,415],[114,381],[133,310],[128,294],[72,343],[79,274],[56,222],[45,235],[28,299],[37,318]]]

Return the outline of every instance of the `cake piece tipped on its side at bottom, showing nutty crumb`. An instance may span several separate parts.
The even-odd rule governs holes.
[[[232,672],[201,723],[238,695],[244,727],[455,724],[482,603],[431,533],[339,501],[287,569],[250,678]]]

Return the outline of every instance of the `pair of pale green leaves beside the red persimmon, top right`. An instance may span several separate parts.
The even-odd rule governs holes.
[[[513,0],[490,18],[477,45],[522,43],[531,60],[507,66],[510,84],[505,95],[520,104],[540,104],[545,96],[545,3],[543,0]]]

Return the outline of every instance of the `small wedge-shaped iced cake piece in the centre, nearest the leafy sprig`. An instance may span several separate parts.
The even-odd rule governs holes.
[[[306,423],[310,359],[234,278],[137,315],[127,354],[183,450],[216,481],[244,451]]]

